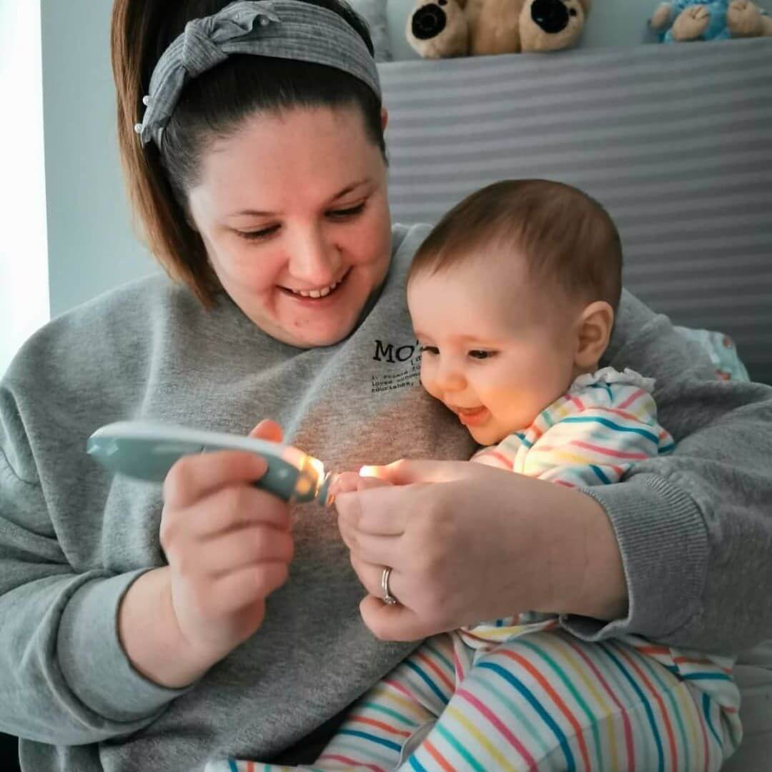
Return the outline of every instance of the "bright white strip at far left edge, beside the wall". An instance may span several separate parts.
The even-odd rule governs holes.
[[[2,375],[49,318],[39,0],[0,0],[0,99]]]

